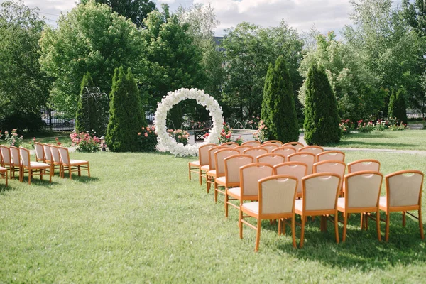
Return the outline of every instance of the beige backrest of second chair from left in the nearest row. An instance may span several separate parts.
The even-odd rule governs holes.
[[[335,173],[314,173],[302,178],[304,211],[331,210],[337,206],[340,177]]]

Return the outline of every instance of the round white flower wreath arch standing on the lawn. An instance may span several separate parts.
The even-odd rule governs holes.
[[[183,146],[182,143],[176,143],[167,133],[166,119],[167,112],[179,102],[185,99],[195,99],[198,104],[206,107],[207,111],[212,116],[213,127],[210,129],[207,141],[204,143],[195,143],[195,145]],[[154,124],[157,127],[158,143],[172,154],[185,156],[197,155],[198,148],[207,143],[216,143],[222,132],[224,119],[222,117],[222,108],[217,101],[209,94],[204,93],[200,89],[178,89],[175,92],[168,92],[167,97],[163,97],[161,102],[158,103],[157,111],[155,111]]]

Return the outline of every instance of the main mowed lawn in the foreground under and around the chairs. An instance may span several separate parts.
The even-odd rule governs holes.
[[[277,225],[264,221],[255,253],[253,229],[244,226],[244,239],[239,239],[237,210],[230,208],[225,219],[224,197],[214,204],[204,184],[196,177],[188,180],[187,162],[194,158],[70,155],[90,161],[92,178],[55,175],[51,185],[12,180],[10,187],[0,186],[1,283],[425,281],[425,241],[411,217],[403,228],[401,215],[391,215],[386,243],[378,242],[374,222],[361,231],[359,214],[351,214],[344,244],[335,243],[332,224],[320,232],[317,218],[307,222],[303,249],[291,246],[290,228],[278,236]],[[426,171],[426,160],[417,155],[346,153],[348,163],[360,158],[381,160],[384,174]],[[383,235],[384,224],[381,229]],[[298,244],[300,227],[296,234]]]

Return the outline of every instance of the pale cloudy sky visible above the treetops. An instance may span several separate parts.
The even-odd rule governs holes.
[[[0,3],[4,0],[0,0]],[[56,18],[75,7],[76,0],[23,0],[24,4],[38,7],[40,14],[46,17],[47,23],[55,26]],[[192,4],[211,4],[217,20],[220,21],[215,31],[216,36],[223,36],[224,29],[235,27],[247,21],[268,27],[278,26],[285,20],[289,26],[300,33],[307,32],[315,26],[321,33],[339,31],[349,25],[351,4],[349,0],[154,0],[158,8],[160,4],[168,4],[170,11],[179,5],[190,7]],[[393,1],[394,4],[400,0]]]

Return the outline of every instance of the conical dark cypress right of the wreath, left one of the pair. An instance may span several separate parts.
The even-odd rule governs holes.
[[[263,89],[261,119],[269,129],[269,139],[283,143],[299,139],[293,87],[283,56],[276,60],[275,67],[269,65]]]

